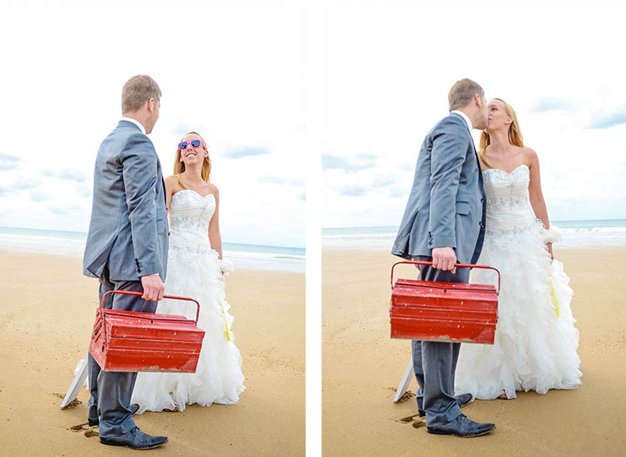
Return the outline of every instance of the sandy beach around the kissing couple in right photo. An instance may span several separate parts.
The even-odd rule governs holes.
[[[390,339],[387,252],[323,251],[323,455],[626,456],[626,250],[559,249],[575,291],[582,385],[511,401],[474,401],[463,412],[495,422],[485,437],[431,435],[399,419],[415,397],[393,403],[410,360],[410,341]],[[412,267],[404,276],[412,274]],[[403,274],[399,271],[399,274]],[[417,382],[409,387],[415,392]]]

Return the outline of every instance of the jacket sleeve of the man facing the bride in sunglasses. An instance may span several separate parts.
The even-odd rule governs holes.
[[[163,271],[157,235],[158,160],[152,141],[144,134],[130,136],[122,149],[122,176],[140,277]]]

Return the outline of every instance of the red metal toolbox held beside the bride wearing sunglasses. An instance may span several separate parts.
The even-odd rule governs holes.
[[[195,321],[185,316],[151,312],[106,310],[109,294],[141,296],[141,292],[113,290],[102,296],[96,312],[89,351],[104,371],[175,371],[193,373],[198,366],[204,330],[198,328],[200,303]]]

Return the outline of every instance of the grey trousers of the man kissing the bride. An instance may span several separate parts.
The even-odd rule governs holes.
[[[431,262],[431,257],[418,256],[413,260]],[[424,281],[469,282],[470,269],[457,268],[456,274],[419,265]],[[417,408],[426,412],[426,426],[447,424],[461,414],[454,397],[454,373],[460,343],[412,340],[413,370],[419,384]]]

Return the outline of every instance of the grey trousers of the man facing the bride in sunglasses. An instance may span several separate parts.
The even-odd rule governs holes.
[[[141,281],[111,282],[109,268],[106,267],[99,279],[100,301],[110,290],[143,292]],[[110,294],[106,296],[104,307],[113,310],[154,312],[157,310],[157,302],[144,300],[140,296]],[[137,374],[130,371],[101,370],[91,354],[88,355],[88,360],[91,392],[88,401],[89,418],[99,419],[100,438],[111,438],[131,431],[135,427],[135,421],[129,407]]]

